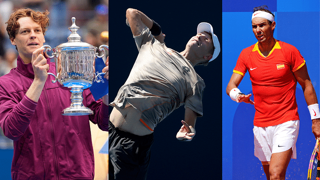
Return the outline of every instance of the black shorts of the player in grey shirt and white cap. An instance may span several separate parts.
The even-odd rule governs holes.
[[[146,179],[153,133],[139,136],[109,121],[109,180]]]

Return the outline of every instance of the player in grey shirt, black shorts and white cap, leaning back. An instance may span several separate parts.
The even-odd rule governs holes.
[[[139,54],[110,105],[109,179],[145,179],[155,126],[182,104],[179,140],[191,140],[202,115],[203,79],[194,66],[217,57],[220,44],[209,23],[198,24],[182,52],[164,44],[160,26],[139,10],[126,10]],[[195,28],[194,28],[195,31]]]

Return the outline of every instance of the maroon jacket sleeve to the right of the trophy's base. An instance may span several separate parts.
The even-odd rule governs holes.
[[[93,114],[89,115],[91,122],[97,124],[101,130],[108,131],[108,106],[102,102],[102,99],[95,101],[89,89],[83,90],[83,98],[85,98],[85,106],[93,111]]]

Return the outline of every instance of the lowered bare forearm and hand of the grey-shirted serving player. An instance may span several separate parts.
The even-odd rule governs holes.
[[[184,120],[181,120],[182,126],[179,131],[176,133],[176,138],[182,141],[190,141],[195,135],[195,120],[196,120],[196,112],[191,110],[188,107],[185,107],[184,112]]]

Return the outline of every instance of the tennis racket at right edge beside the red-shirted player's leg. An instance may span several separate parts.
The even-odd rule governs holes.
[[[315,146],[310,158],[308,169],[308,180],[318,180],[320,176],[319,138],[316,139]]]

